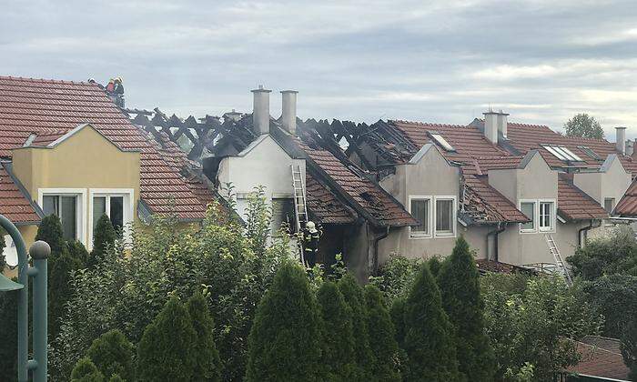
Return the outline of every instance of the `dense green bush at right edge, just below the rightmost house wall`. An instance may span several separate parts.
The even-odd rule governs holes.
[[[637,239],[630,226],[616,226],[610,236],[588,241],[566,261],[573,274],[585,280],[614,274],[637,276]]]

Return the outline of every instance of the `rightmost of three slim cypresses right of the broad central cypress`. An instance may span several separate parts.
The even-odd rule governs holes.
[[[373,355],[372,380],[399,382],[401,378],[396,365],[398,343],[394,325],[378,287],[365,286],[365,302],[368,312],[369,348]]]

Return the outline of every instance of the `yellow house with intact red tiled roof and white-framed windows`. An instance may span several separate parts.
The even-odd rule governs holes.
[[[0,76],[0,214],[27,245],[48,214],[88,249],[103,214],[125,236],[155,214],[201,220],[217,196],[170,145],[133,125],[96,84]]]

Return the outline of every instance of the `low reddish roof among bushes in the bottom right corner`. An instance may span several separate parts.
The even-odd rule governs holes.
[[[630,369],[623,363],[620,340],[587,336],[576,343],[581,362],[568,371],[591,377],[605,377],[629,381]]]

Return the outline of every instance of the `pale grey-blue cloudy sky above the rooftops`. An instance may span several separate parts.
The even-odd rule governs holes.
[[[106,83],[126,106],[466,125],[489,107],[637,137],[637,2],[2,0],[0,75]]]

